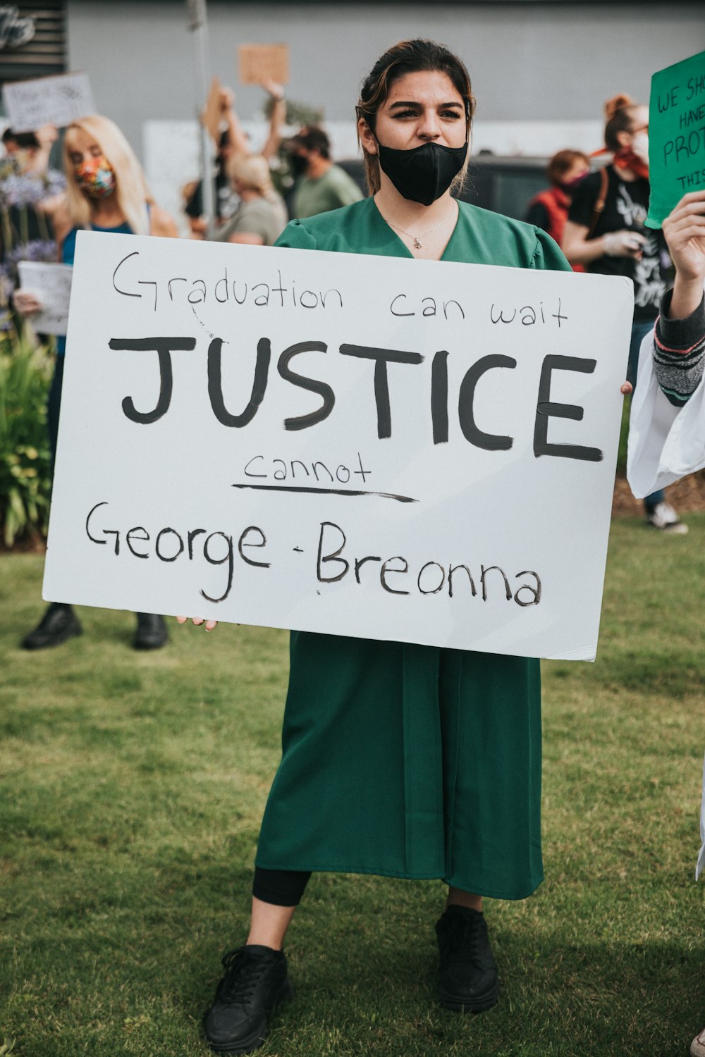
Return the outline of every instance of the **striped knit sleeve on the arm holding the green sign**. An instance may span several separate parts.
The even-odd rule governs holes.
[[[682,407],[690,400],[705,367],[705,297],[691,316],[668,319],[672,291],[664,295],[653,338],[653,370],[664,395]]]

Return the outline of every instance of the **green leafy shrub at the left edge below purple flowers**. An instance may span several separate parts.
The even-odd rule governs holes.
[[[45,535],[51,494],[47,393],[52,357],[7,338],[0,347],[0,532],[5,546]]]

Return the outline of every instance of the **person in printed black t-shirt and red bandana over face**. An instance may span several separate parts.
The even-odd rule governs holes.
[[[645,227],[649,208],[649,110],[628,95],[605,104],[605,144],[612,163],[586,177],[576,188],[563,233],[571,264],[588,272],[623,275],[634,283],[634,319],[627,378],[636,384],[638,349],[653,328],[671,276],[663,233]],[[685,533],[662,489],[644,500],[649,524],[664,533]]]

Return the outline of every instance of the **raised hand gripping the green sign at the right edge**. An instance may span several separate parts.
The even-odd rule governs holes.
[[[692,315],[703,299],[705,280],[705,191],[684,194],[664,221],[664,236],[675,265],[668,311],[671,319]]]

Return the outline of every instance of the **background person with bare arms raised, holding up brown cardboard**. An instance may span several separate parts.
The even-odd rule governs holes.
[[[270,131],[260,151],[267,166],[276,156],[281,145],[281,129],[286,118],[284,90],[273,80],[263,80],[262,88],[272,100],[270,113]],[[228,221],[237,211],[240,199],[230,179],[229,165],[236,157],[249,156],[254,153],[252,144],[242,128],[235,110],[235,93],[230,88],[222,88],[220,92],[220,138],[216,157],[216,228]],[[203,216],[203,182],[196,182],[187,194],[184,212],[189,218],[191,234],[196,238],[204,238],[206,219]],[[217,231],[220,237],[220,233]]]

